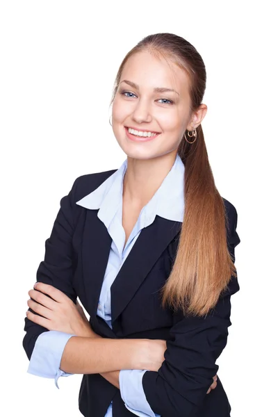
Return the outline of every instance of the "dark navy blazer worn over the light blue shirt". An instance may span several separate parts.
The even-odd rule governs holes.
[[[90,316],[94,331],[106,338],[150,338],[167,341],[165,361],[158,372],[148,371],[143,389],[152,410],[162,417],[228,417],[230,404],[218,375],[218,385],[206,394],[218,372],[215,365],[227,343],[230,297],[239,290],[231,278],[228,290],[206,318],[187,318],[162,309],[158,290],[170,275],[181,222],[156,215],[142,229],[129,256],[111,286],[112,329],[97,316],[97,304],[111,249],[111,236],[97,218],[98,210],[75,204],[95,190],[116,170],[83,175],[74,181],[60,210],[51,236],[45,242],[45,257],[37,281],[51,284],[72,300],[78,296]],[[227,242],[234,259],[240,243],[236,233],[236,208],[224,199],[227,211]],[[24,350],[31,358],[38,336],[47,331],[25,318]],[[104,417],[113,400],[113,417],[133,416],[120,390],[99,374],[83,375],[79,409],[85,417]]]

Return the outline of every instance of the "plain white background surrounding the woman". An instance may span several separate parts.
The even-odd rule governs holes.
[[[238,211],[240,292],[218,374],[232,417],[277,412],[274,6],[1,1],[1,416],[81,415],[81,375],[60,378],[58,390],[26,373],[28,291],[74,179],[124,161],[108,122],[113,82],[129,49],[158,32],[181,35],[204,59],[208,156],[220,194]]]

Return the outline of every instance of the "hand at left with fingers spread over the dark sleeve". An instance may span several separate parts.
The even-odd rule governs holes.
[[[28,306],[35,313],[40,314],[38,316],[27,311],[26,316],[29,320],[48,330],[57,330],[83,337],[94,336],[95,332],[90,327],[90,322],[88,322],[81,305],[78,302],[74,304],[58,288],[38,282],[35,289],[30,290],[28,295],[34,300],[28,300]]]

